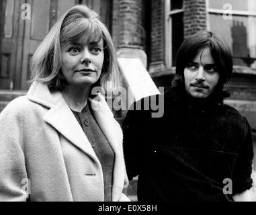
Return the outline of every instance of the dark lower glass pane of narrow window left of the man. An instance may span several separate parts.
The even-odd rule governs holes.
[[[183,13],[177,13],[171,16],[172,19],[172,62],[175,66],[177,50],[183,42]]]

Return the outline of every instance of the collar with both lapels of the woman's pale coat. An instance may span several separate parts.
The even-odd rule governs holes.
[[[99,159],[95,155],[87,136],[77,122],[75,116],[69,106],[62,97],[60,91],[50,92],[47,85],[34,82],[28,91],[28,99],[48,107],[49,110],[44,115],[44,121],[53,126],[62,136],[65,136],[70,142],[75,144],[84,153],[97,161],[100,166]],[[122,143],[122,130],[116,124],[113,114],[101,95],[97,95],[94,99],[89,99],[91,102],[92,113],[95,120],[99,124],[103,134],[106,136],[112,146],[115,156],[122,154],[118,145]]]

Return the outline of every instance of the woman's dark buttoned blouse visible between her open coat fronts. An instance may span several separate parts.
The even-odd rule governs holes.
[[[83,128],[91,146],[101,163],[104,181],[104,201],[112,201],[112,182],[114,171],[114,151],[110,143],[105,138],[104,134],[91,114],[90,107],[85,106],[81,113],[73,111],[75,118]]]

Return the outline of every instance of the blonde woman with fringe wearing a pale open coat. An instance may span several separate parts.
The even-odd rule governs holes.
[[[128,200],[122,130],[103,96],[91,95],[118,84],[114,45],[97,14],[78,5],[62,15],[34,53],[32,73],[28,94],[0,115],[0,200]]]

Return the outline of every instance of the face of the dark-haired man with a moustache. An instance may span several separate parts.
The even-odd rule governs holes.
[[[214,91],[220,74],[209,48],[204,48],[184,69],[185,90],[189,95],[205,99]]]

